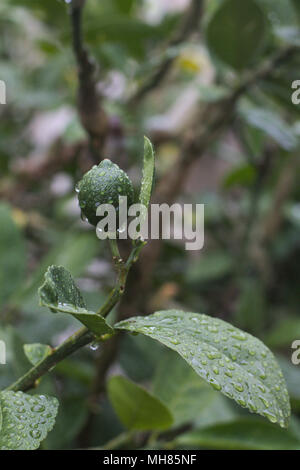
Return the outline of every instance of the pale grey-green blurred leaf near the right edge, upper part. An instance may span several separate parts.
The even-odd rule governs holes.
[[[290,151],[297,147],[296,133],[278,113],[262,108],[241,107],[240,114],[250,126],[263,131],[284,150]]]

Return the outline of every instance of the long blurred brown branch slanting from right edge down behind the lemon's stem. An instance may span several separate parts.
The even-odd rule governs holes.
[[[172,204],[176,200],[192,164],[206,152],[212,142],[232,123],[239,98],[255,86],[257,82],[272,76],[281,65],[289,61],[298,51],[298,46],[283,48],[260,68],[248,74],[239,86],[231,91],[228,97],[215,103],[208,103],[199,110],[193,127],[183,139],[177,162],[157,185],[153,195],[154,203],[166,202]],[[147,309],[145,293],[150,291],[149,285],[160,256],[161,246],[160,240],[153,240],[144,250],[141,257],[141,266],[138,267],[139,272],[136,273],[135,277],[134,295],[131,286],[129,286],[128,298],[124,299],[122,305],[124,317],[132,315],[133,310],[142,312],[142,309]],[[129,297],[130,292],[131,297]],[[134,299],[135,305],[133,305],[132,299]]]

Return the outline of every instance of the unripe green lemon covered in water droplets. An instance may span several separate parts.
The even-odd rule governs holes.
[[[92,225],[97,225],[101,217],[96,215],[101,204],[112,204],[119,209],[119,196],[127,196],[127,204],[134,203],[132,182],[115,163],[103,160],[89,170],[76,186],[82,215]]]

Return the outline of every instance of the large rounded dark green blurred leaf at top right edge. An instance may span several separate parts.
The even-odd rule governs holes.
[[[207,26],[211,52],[241,70],[258,57],[265,42],[265,14],[254,0],[225,0]]]

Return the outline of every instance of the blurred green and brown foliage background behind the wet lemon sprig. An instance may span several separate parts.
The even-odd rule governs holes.
[[[107,157],[138,190],[145,134],[156,151],[153,200],[204,203],[205,246],[150,242],[112,319],[180,308],[253,333],[280,361],[292,424],[277,431],[255,418],[252,441],[241,438],[243,420],[252,432],[246,411],[158,344],[121,337],[42,380],[38,390],[61,401],[43,448],[100,446],[122,431],[105,396],[114,373],[166,401],[176,429],[199,430],[200,447],[300,442],[300,366],[291,362],[300,339],[300,104],[291,99],[300,2],[87,0],[81,18],[71,3],[0,5],[1,387],[29,368],[24,343],[55,346],[78,328],[38,305],[48,265],[71,271],[90,309],[113,285],[108,247],[81,220],[74,186]]]

